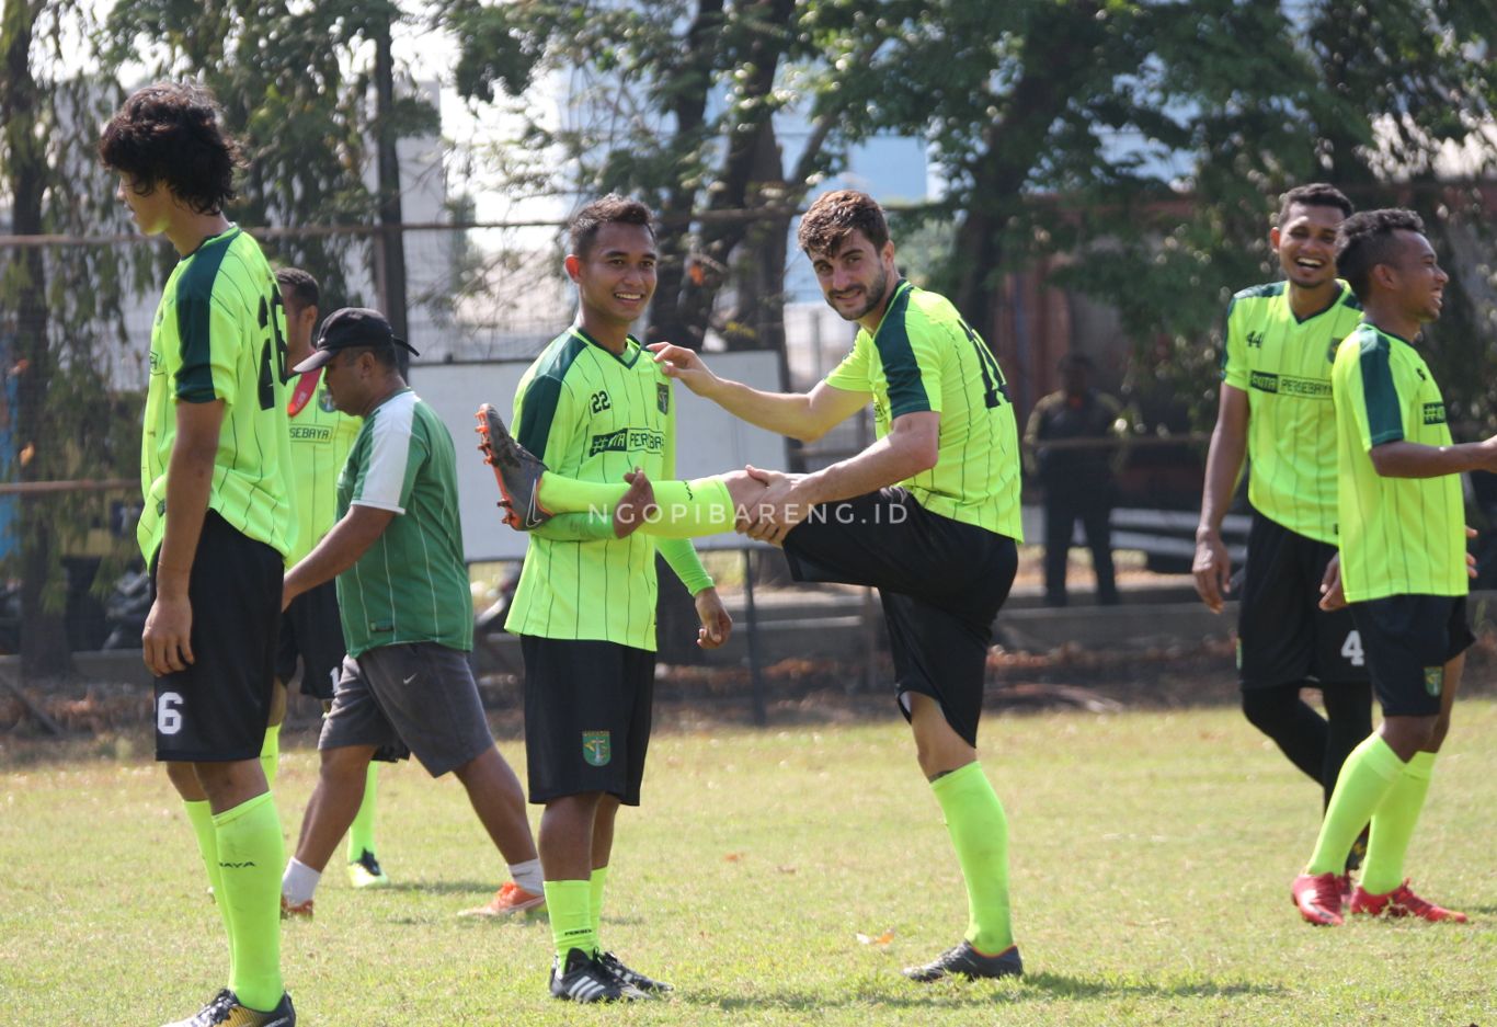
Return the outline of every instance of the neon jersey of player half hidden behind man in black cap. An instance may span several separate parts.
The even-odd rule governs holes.
[[[314,388],[305,406],[290,416],[290,484],[296,496],[296,548],[286,564],[295,564],[322,542],[338,519],[338,472],[349,460],[359,434],[358,418],[340,413],[320,382],[322,368],[301,376],[296,388]],[[317,376],[317,377],[313,377]],[[311,380],[308,380],[308,377]],[[295,389],[293,389],[295,394]]]

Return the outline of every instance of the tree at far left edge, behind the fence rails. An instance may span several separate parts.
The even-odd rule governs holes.
[[[6,0],[0,15],[0,192],[12,232],[82,235],[118,231],[121,216],[93,154],[94,126],[117,94],[108,67],[58,78],[66,54],[90,30],[87,6]],[[117,247],[19,246],[0,252],[0,353],[18,379],[7,464],[21,482],[127,476],[135,452],[121,424],[138,422],[129,397],[112,392],[123,335],[121,298],[132,260]],[[15,563],[21,576],[21,668],[27,677],[70,668],[63,621],[64,554],[108,521],[97,493],[28,496],[19,505]],[[106,566],[127,558],[117,543]]]

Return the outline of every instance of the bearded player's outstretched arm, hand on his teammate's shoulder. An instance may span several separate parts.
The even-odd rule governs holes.
[[[671,343],[653,343],[648,349],[668,377],[696,395],[711,400],[740,421],[801,442],[816,442],[873,398],[871,392],[838,389],[826,382],[817,382],[810,392],[762,392],[743,382],[717,377],[695,350]]]

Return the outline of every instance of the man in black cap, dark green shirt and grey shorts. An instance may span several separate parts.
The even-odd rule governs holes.
[[[524,793],[494,746],[467,665],[473,597],[452,437],[406,385],[397,347],[415,353],[379,311],[344,307],[328,316],[317,349],[293,368],[320,368],[337,409],[364,424],[338,475],[338,521],[286,572],[287,605],[337,578],[347,650],[317,740],[317,786],[281,877],[289,916],[313,913],[322,870],[382,750],[413,753],[433,777],[452,771],[510,874],[540,891]]]

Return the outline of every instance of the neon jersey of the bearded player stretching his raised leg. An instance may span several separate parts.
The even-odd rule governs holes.
[[[951,301],[900,281],[879,329],[858,329],[826,385],[873,394],[879,439],[898,416],[939,413],[936,466],[900,484],[931,514],[1024,540],[1009,386],[993,350]]]

